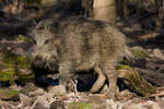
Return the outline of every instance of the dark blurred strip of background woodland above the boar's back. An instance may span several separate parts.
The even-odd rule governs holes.
[[[0,0],[0,15],[47,17],[83,15],[116,24],[140,24],[148,32],[163,34],[163,0]]]

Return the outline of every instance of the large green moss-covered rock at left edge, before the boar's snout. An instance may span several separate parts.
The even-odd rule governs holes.
[[[0,66],[0,82],[12,83],[15,80],[31,80],[35,76],[31,70],[32,61],[27,56],[17,56],[10,51],[3,53]],[[5,68],[5,69],[4,69]]]

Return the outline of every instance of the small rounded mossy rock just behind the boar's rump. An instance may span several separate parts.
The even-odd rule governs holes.
[[[144,59],[148,57],[147,51],[142,47],[132,47],[130,51],[136,59]]]

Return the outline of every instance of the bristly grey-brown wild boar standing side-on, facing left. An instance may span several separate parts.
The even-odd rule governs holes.
[[[98,78],[91,88],[97,92],[109,81],[109,90],[116,94],[115,64],[125,56],[125,36],[106,22],[72,16],[58,21],[42,21],[32,34],[36,40],[33,56],[36,63],[58,66],[61,81],[70,73],[94,69]]]

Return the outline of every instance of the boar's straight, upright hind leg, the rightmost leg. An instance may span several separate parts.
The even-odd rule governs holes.
[[[109,97],[117,98],[118,96],[118,88],[117,88],[117,71],[112,62],[105,62],[102,64],[102,70],[107,81],[109,83]]]

